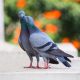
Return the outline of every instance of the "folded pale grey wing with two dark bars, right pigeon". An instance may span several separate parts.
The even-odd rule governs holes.
[[[44,33],[33,33],[30,35],[30,42],[34,48],[38,51],[49,53],[54,56],[64,56],[64,57],[73,57],[62,50],[60,50],[57,45],[46,36]]]

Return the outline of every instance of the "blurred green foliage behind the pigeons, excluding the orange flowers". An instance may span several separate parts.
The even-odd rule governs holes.
[[[17,13],[20,10],[16,6],[17,0],[5,0],[5,31],[10,24],[18,22]],[[60,41],[64,37],[70,39],[80,38],[80,5],[75,2],[65,2],[64,0],[26,0],[27,5],[24,11],[27,15],[39,19],[43,22],[43,26],[48,23],[56,24],[59,27],[59,32],[56,35],[50,36]],[[60,19],[46,20],[42,14],[50,10],[60,10],[62,16]],[[12,26],[11,26],[12,27]],[[12,32],[13,33],[13,32]],[[6,40],[9,40],[10,35],[6,35]],[[11,39],[11,38],[10,38]]]

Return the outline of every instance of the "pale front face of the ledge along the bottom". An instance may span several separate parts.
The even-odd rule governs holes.
[[[17,72],[0,74],[0,80],[80,80],[80,74]]]

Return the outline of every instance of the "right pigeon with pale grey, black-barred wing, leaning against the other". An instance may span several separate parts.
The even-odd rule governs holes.
[[[70,58],[72,55],[62,51],[54,43],[54,41],[44,32],[40,31],[38,27],[34,25],[32,17],[27,18],[27,27],[30,33],[29,41],[32,48],[44,58],[45,68],[48,68],[49,59],[57,61],[57,59],[66,67],[71,67]],[[51,61],[52,62],[52,61]]]

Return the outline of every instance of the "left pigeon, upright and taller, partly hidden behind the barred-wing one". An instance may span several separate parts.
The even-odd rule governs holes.
[[[25,12],[22,10],[19,11],[18,16],[19,16],[20,23],[21,23],[21,32],[20,32],[18,42],[19,42],[20,47],[28,54],[30,61],[31,61],[30,66],[27,68],[32,68],[32,62],[33,62],[34,56],[37,59],[36,68],[40,68],[39,67],[39,57],[41,56],[39,56],[38,52],[32,48],[30,41],[29,41],[30,33],[27,27],[28,26],[27,22],[28,22],[28,19],[30,19],[31,17],[25,16]],[[58,64],[58,61],[54,59],[49,59],[49,63]]]

